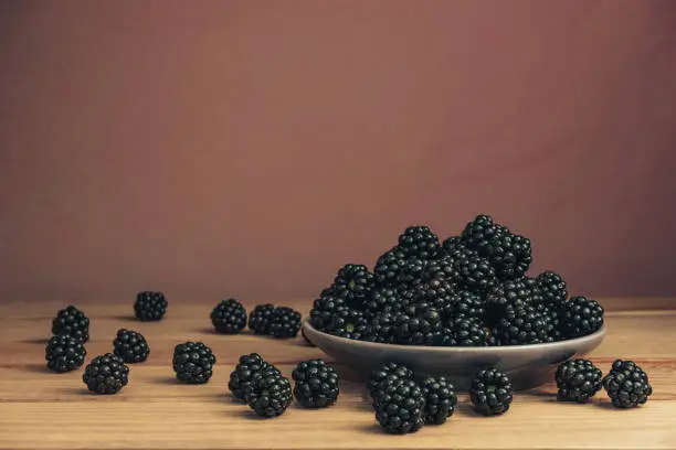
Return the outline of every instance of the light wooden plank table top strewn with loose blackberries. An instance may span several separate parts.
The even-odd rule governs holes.
[[[592,360],[605,373],[616,357],[649,375],[654,394],[636,409],[617,410],[601,392],[591,404],[556,401],[553,385],[517,393],[504,416],[475,415],[460,394],[442,426],[408,436],[383,433],[360,383],[344,382],[339,401],[321,410],[293,405],[275,419],[257,419],[226,388],[241,354],[257,352],[291,376],[294,365],[321,352],[300,336],[278,341],[211,332],[208,302],[169,306],[162,322],[141,323],[130,304],[77,304],[92,320],[87,362],[112,350],[119,328],[141,331],[151,353],[130,366],[130,382],[114,396],[89,394],[82,369],[44,367],[51,318],[63,302],[0,304],[0,448],[7,449],[448,449],[448,448],[676,448],[676,304],[672,299],[606,299],[608,338]],[[304,313],[309,301],[286,303]],[[247,304],[251,307],[252,304]],[[638,306],[640,310],[631,308]],[[173,345],[200,340],[218,357],[207,385],[175,382]]]

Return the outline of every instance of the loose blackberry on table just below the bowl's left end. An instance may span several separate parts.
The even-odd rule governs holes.
[[[298,363],[292,378],[294,396],[306,408],[324,408],[338,399],[338,373],[324,360]]]

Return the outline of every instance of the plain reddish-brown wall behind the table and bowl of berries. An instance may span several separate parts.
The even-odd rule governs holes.
[[[3,1],[2,299],[309,297],[490,213],[674,294],[670,1]]]

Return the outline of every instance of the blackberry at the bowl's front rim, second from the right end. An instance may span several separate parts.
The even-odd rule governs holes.
[[[509,306],[494,329],[500,345],[528,345],[548,341],[545,317],[530,306]]]

